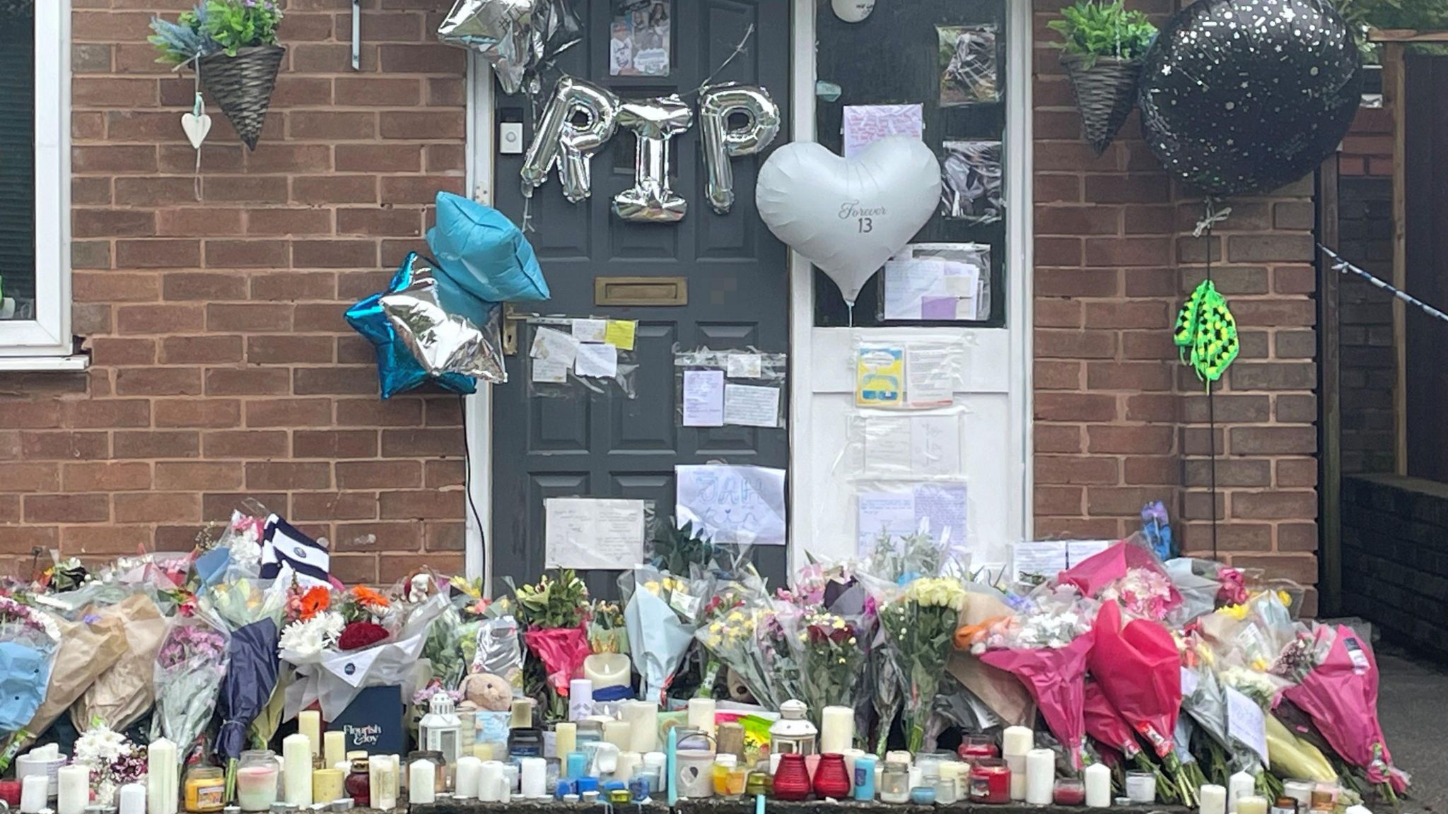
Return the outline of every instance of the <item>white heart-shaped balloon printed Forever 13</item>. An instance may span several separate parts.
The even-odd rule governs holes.
[[[853,306],[940,206],[940,161],[912,136],[883,138],[854,158],[795,142],[759,169],[754,203],[769,230],[828,274]]]

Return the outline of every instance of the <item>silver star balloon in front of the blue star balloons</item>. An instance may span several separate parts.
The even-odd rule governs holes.
[[[449,314],[437,300],[437,281],[420,278],[381,300],[392,330],[432,377],[462,374],[502,384],[501,307],[488,309],[487,324]]]

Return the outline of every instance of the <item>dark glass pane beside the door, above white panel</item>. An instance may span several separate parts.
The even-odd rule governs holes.
[[[847,23],[828,3],[817,14],[818,80],[838,88],[838,98],[815,101],[817,138],[844,152],[847,106],[919,104],[924,140],[943,167],[943,194],[935,214],[896,259],[948,264],[948,272],[975,267],[975,301],[957,300],[963,287],[947,285],[950,297],[914,297],[915,313],[895,319],[886,313],[886,282],[906,282],[904,264],[876,272],[854,306],[856,326],[1006,324],[1008,226],[1019,213],[1009,209],[1005,187],[1008,0],[911,0],[877,3],[862,23]],[[898,132],[898,130],[896,130]],[[902,272],[891,277],[892,271]],[[918,271],[928,271],[919,268]],[[838,287],[815,269],[815,324],[846,326],[850,313]],[[941,285],[935,281],[934,285]],[[911,282],[915,285],[915,282]],[[908,290],[906,290],[908,291]],[[934,291],[934,288],[931,290]],[[933,303],[931,303],[933,300]],[[911,298],[896,297],[896,307]],[[941,307],[948,313],[940,313]]]

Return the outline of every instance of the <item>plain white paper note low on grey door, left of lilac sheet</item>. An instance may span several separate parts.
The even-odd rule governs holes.
[[[631,568],[643,562],[644,503],[550,497],[543,501],[549,568]]]

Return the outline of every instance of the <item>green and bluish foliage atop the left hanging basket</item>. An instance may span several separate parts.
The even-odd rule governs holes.
[[[217,51],[236,56],[240,48],[277,45],[281,17],[274,0],[206,0],[174,23],[152,19],[146,39],[161,52],[156,62],[181,65]]]

